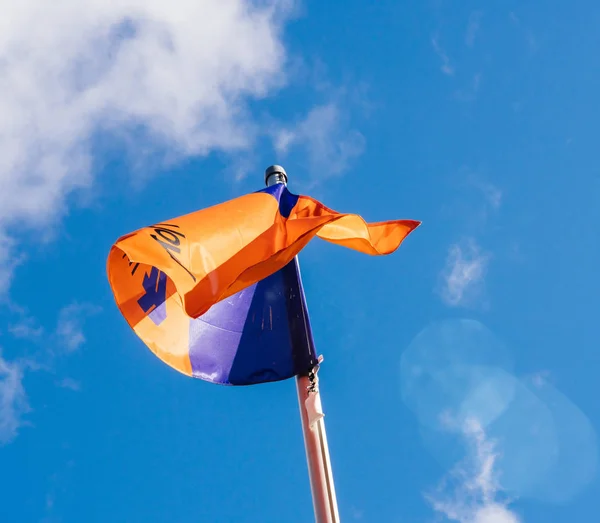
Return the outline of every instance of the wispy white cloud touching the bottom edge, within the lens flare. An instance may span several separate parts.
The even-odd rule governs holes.
[[[468,456],[426,494],[436,512],[458,523],[521,523],[502,496],[497,469],[496,443],[487,437],[477,419],[462,425]]]

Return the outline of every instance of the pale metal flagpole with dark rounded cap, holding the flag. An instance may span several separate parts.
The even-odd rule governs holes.
[[[276,183],[287,184],[287,173],[279,165],[272,165],[265,171],[267,186]],[[297,263],[297,260],[296,260]],[[340,516],[333,483],[327,434],[319,391],[317,364],[307,375],[296,376],[296,389],[300,407],[300,420],[306,450],[308,476],[313,498],[316,523],[339,523]]]

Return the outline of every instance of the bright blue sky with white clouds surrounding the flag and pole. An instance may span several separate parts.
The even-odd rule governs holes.
[[[114,304],[118,237],[263,187],[422,226],[300,263],[341,519],[594,522],[600,7],[5,0],[0,522],[313,521],[293,380]]]

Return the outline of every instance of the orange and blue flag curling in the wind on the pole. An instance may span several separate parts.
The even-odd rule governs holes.
[[[316,363],[298,252],[318,236],[390,254],[418,225],[367,224],[276,184],[121,237],[107,273],[121,313],[165,363],[215,383],[277,381]]]

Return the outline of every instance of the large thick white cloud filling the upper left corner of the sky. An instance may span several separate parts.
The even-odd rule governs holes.
[[[270,0],[13,4],[0,19],[0,289],[19,231],[94,183],[99,136],[137,157],[250,149],[249,102],[283,85],[293,14]]]

